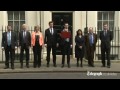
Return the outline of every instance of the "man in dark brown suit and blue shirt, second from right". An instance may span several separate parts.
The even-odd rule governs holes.
[[[89,28],[88,35],[85,36],[88,65],[94,67],[94,52],[96,50],[97,35],[93,33],[93,28]]]

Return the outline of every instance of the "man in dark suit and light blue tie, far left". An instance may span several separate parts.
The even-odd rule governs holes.
[[[11,31],[12,27],[7,26],[7,32],[2,36],[2,49],[5,50],[5,68],[9,68],[9,56],[11,57],[11,69],[14,69],[15,49],[17,49],[17,37],[16,34]],[[9,55],[10,53],[10,55]]]

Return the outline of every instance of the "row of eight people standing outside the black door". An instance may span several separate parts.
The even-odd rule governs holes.
[[[41,67],[41,51],[44,45],[47,48],[47,67],[50,64],[50,52],[52,49],[53,66],[56,64],[56,49],[60,45],[62,52],[62,65],[65,64],[65,55],[67,55],[67,65],[70,68],[70,52],[72,46],[72,34],[69,30],[69,24],[64,24],[64,29],[61,32],[69,32],[71,36],[68,38],[61,37],[57,31],[53,28],[54,23],[49,22],[49,28],[45,30],[45,38],[41,32],[39,25],[34,27],[34,32],[30,34],[27,30],[27,25],[22,25],[22,30],[19,32],[19,43],[17,42],[17,36],[12,30],[11,26],[7,26],[7,32],[2,35],[2,50],[5,50],[5,69],[9,68],[9,56],[11,58],[11,69],[14,69],[15,50],[20,48],[20,67],[23,68],[23,54],[26,52],[26,67],[29,68],[29,48],[33,48],[34,63],[33,67]],[[60,43],[58,43],[60,37]],[[102,64],[105,67],[105,52],[107,54],[107,66],[110,68],[110,41],[113,39],[112,33],[108,30],[107,24],[104,25],[104,30],[100,33],[101,40],[101,56]],[[83,57],[85,50],[87,51],[88,65],[94,67],[94,51],[97,43],[97,35],[93,33],[93,28],[89,28],[89,33],[83,36],[82,30],[77,31],[75,37],[75,57],[77,58],[77,67],[79,67],[79,60],[81,61],[81,67],[83,66]],[[86,49],[85,49],[86,48]],[[10,55],[9,55],[10,54]]]

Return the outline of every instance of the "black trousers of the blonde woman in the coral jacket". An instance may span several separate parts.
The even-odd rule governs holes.
[[[40,67],[41,66],[41,51],[42,51],[42,46],[40,45],[35,45],[33,47],[33,52],[34,52],[34,67]]]

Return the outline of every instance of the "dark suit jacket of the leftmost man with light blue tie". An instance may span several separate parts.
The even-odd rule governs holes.
[[[3,33],[2,35],[2,47],[6,49],[8,43],[7,43],[7,32]],[[12,49],[15,49],[17,47],[17,37],[15,32],[11,31],[11,47]]]

